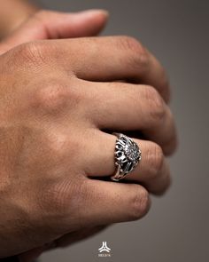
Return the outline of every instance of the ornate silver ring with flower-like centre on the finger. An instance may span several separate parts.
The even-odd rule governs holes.
[[[118,182],[135,170],[142,159],[142,152],[135,141],[128,136],[120,133],[113,133],[113,135],[117,137],[114,152],[116,171],[111,179]]]

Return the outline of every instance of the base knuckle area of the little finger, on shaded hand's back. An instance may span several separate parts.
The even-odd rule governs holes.
[[[54,233],[69,229],[72,221],[74,226],[82,226],[81,212],[85,205],[86,192],[83,189],[84,179],[65,178],[48,179],[36,197],[36,219],[42,221],[45,230]]]

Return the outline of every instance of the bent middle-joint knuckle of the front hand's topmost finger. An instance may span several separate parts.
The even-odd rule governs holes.
[[[146,72],[149,67],[148,52],[143,47],[143,44],[138,42],[134,37],[123,36],[120,39],[120,44],[130,53],[130,66],[135,69],[140,69],[140,72]]]

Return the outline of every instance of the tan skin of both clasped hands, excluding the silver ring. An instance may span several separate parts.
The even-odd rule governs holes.
[[[67,27],[72,20],[78,30]],[[169,186],[165,155],[176,135],[164,69],[128,36],[41,40],[96,35],[106,14],[82,20],[38,12],[0,46],[1,258],[24,252],[27,261],[54,242],[71,243],[74,232],[82,239],[142,218],[149,193]],[[143,160],[129,183],[107,180],[112,131],[146,138],[135,139]]]

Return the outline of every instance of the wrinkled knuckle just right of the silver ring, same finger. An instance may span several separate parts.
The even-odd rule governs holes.
[[[158,144],[152,143],[151,147],[148,149],[148,164],[150,167],[151,179],[157,178],[164,164],[163,150]]]

